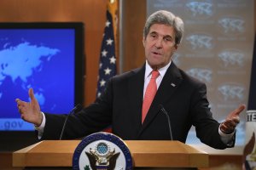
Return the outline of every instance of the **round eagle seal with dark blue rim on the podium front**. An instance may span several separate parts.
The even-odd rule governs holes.
[[[75,170],[129,170],[131,152],[125,142],[113,133],[86,136],[73,153]]]

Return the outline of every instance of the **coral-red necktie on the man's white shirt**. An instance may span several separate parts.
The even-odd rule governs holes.
[[[146,93],[143,100],[142,122],[144,122],[144,119],[148,113],[149,107],[154,99],[154,95],[156,94],[156,91],[157,91],[155,80],[159,76],[159,71],[152,71],[151,74],[152,76],[151,76],[150,82],[148,83],[148,87],[146,89]]]

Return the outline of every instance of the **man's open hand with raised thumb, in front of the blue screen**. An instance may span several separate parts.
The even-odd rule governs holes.
[[[39,127],[43,121],[43,116],[38,104],[38,100],[35,98],[33,89],[29,88],[28,91],[30,102],[22,101],[20,99],[15,99],[17,107],[20,112],[20,117],[26,122],[31,122],[37,127]]]

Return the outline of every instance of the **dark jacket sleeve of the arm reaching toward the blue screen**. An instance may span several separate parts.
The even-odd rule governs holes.
[[[63,139],[80,139],[90,133],[102,131],[112,122],[112,81],[100,98],[83,110],[68,116],[45,114],[46,122],[42,139],[60,139],[65,119]]]

